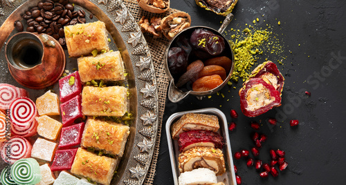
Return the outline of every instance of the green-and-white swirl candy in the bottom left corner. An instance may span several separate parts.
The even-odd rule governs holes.
[[[11,166],[11,177],[17,184],[37,184],[42,179],[39,163],[33,158],[19,159]]]

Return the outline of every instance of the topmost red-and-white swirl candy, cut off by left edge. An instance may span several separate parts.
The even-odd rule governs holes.
[[[23,88],[17,88],[10,84],[0,84],[0,109],[9,109],[13,99],[27,96],[28,92]]]

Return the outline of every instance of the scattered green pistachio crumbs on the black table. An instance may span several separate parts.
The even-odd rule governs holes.
[[[257,20],[258,22],[259,20]],[[256,20],[252,25],[245,25],[244,29],[233,29],[225,32],[226,36],[230,35],[230,45],[235,54],[235,68],[228,85],[232,86],[232,81],[237,82],[239,78],[246,81],[253,68],[262,64],[264,61],[271,61],[281,64],[286,59],[282,52],[283,41],[277,39],[277,34],[273,32],[273,26],[266,24],[266,28],[255,28]],[[278,23],[280,26],[280,21]],[[265,59],[263,59],[265,57]],[[254,66],[255,65],[255,66]],[[235,88],[235,87],[233,87]]]

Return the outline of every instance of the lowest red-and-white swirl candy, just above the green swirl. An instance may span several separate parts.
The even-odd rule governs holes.
[[[4,162],[13,164],[19,159],[30,157],[31,148],[30,142],[24,137],[11,137],[1,148],[1,158]]]

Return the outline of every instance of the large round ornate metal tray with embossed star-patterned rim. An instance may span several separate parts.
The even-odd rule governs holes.
[[[5,59],[5,46],[8,39],[17,33],[14,21],[24,21],[21,15],[40,0],[0,0],[0,83],[24,88],[12,78]],[[130,97],[128,110],[134,115],[130,126],[125,153],[111,184],[143,184],[147,174],[158,126],[158,93],[152,57],[138,24],[121,0],[70,0],[75,8],[83,8],[86,17],[93,14],[91,21],[103,21],[111,37],[111,49],[119,50],[128,73],[127,84]],[[86,19],[90,22],[90,19]],[[26,28],[26,27],[25,27]],[[25,29],[24,28],[24,29]],[[115,44],[114,44],[115,43]],[[69,56],[65,50],[66,56]],[[66,70],[77,68],[76,59],[66,57]],[[28,89],[30,98],[43,95],[46,90],[59,92],[55,84],[44,90]],[[0,170],[6,164],[0,159]]]

